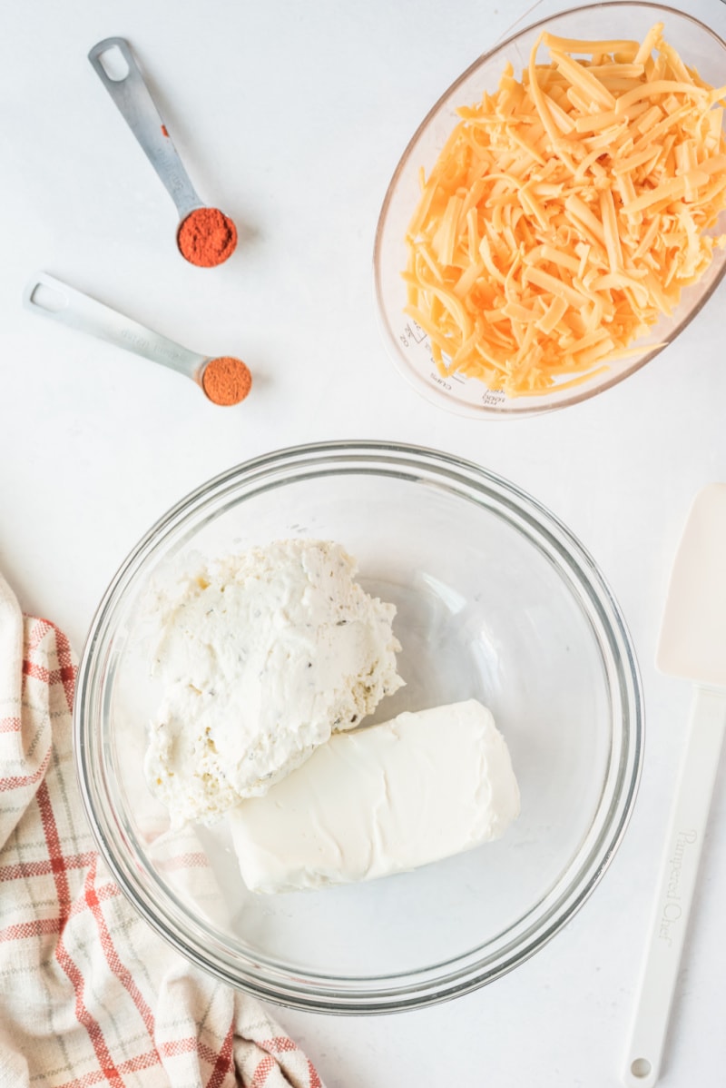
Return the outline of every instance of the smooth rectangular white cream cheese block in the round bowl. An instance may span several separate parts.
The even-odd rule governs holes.
[[[245,883],[284,892],[413,869],[520,813],[504,738],[476,700],[338,733],[227,814]]]

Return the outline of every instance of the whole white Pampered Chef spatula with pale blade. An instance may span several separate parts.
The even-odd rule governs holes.
[[[693,684],[623,1083],[658,1080],[726,725],[726,484],[696,496],[676,554],[656,665]]]

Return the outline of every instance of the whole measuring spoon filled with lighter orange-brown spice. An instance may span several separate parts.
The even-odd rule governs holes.
[[[252,375],[241,359],[190,351],[46,272],[38,272],[28,281],[23,305],[35,313],[54,318],[71,329],[79,329],[191,378],[213,404],[239,404],[252,386]]]

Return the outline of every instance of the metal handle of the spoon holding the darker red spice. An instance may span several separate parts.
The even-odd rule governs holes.
[[[123,65],[117,76],[115,71],[113,75],[109,75],[109,71],[103,66],[102,54],[112,49],[120,51],[126,65],[125,74]],[[93,46],[88,53],[88,60],[166,187],[176,205],[179,220],[186,219],[195,208],[203,207],[159,115],[126,39],[104,38]]]

